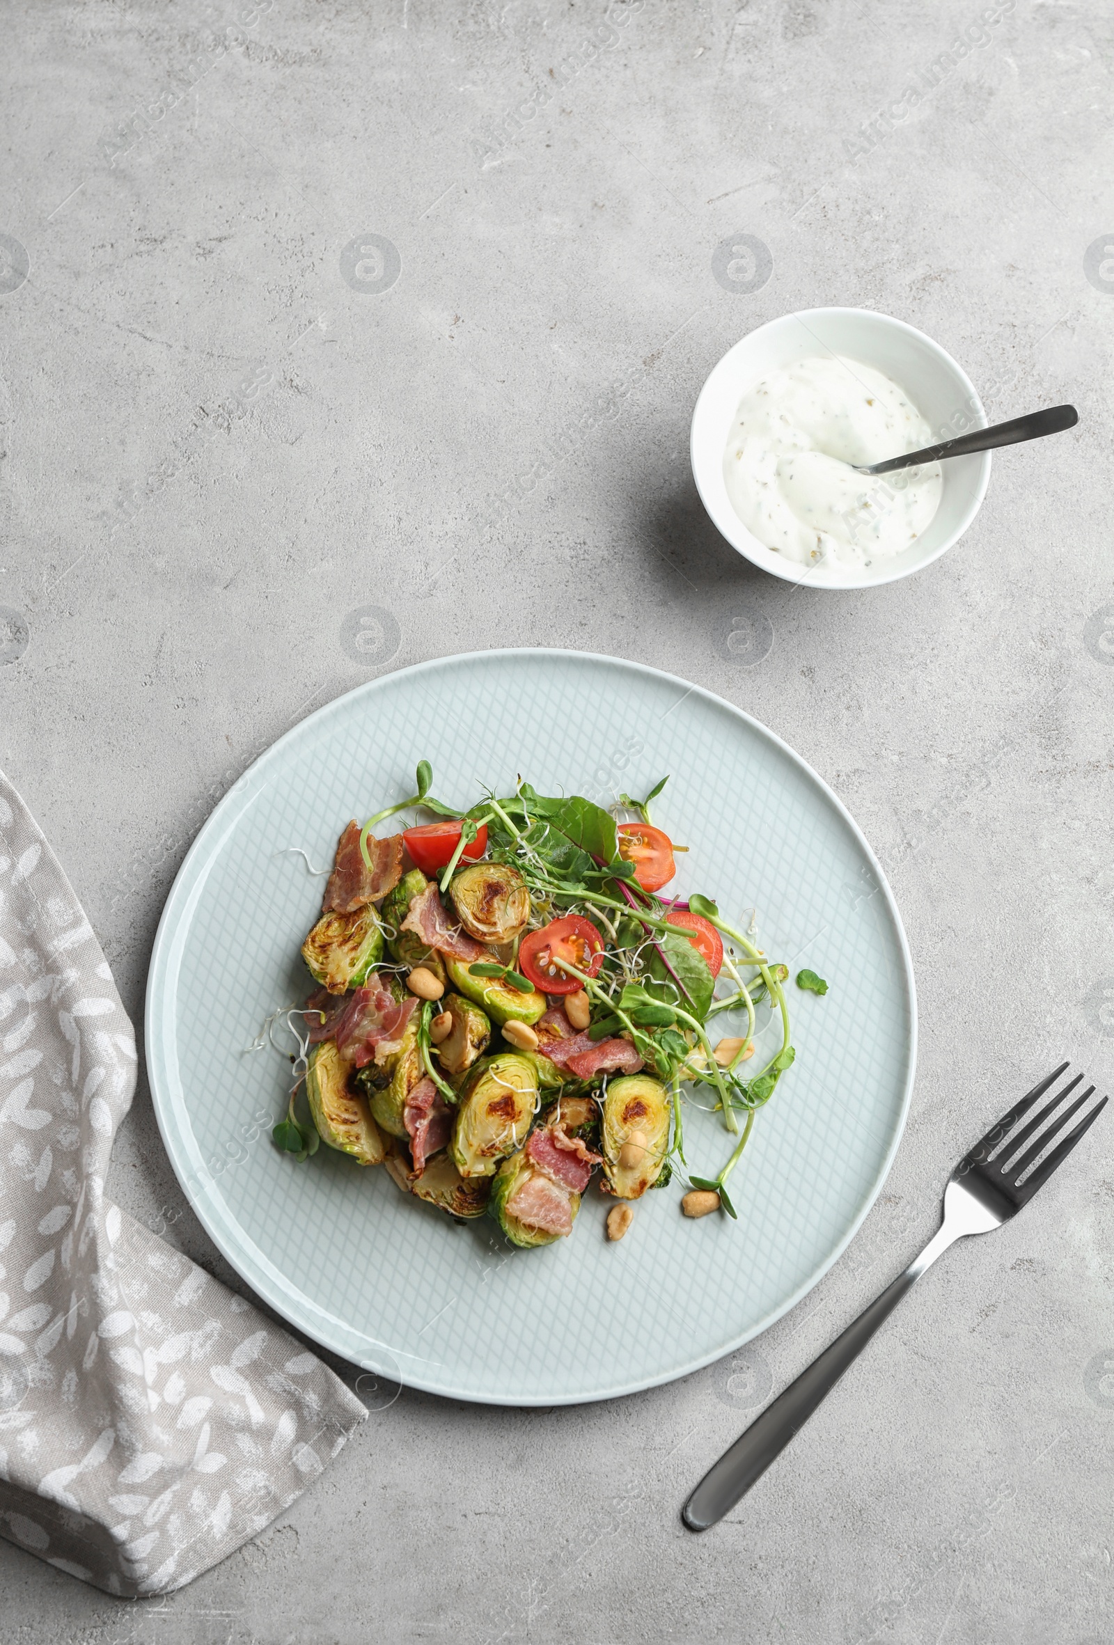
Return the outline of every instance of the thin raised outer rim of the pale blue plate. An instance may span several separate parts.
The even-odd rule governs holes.
[[[169,949],[173,946],[174,931],[181,920],[183,905],[188,906],[189,903],[189,893],[193,890],[191,870],[196,867],[201,857],[207,850],[211,850],[211,836],[214,831],[214,824],[219,826],[219,819],[235,803],[237,795],[244,793],[244,790],[248,786],[252,775],[265,762],[268,762],[273,755],[276,755],[276,752],[283,748],[288,742],[291,742],[296,735],[304,734],[304,729],[308,725],[313,725],[314,721],[324,721],[329,716],[336,714],[341,704],[347,704],[352,697],[372,694],[378,686],[382,686],[387,681],[403,679],[405,676],[436,673],[438,670],[443,670],[449,665],[477,665],[477,663],[489,663],[497,658],[540,658],[540,656],[555,660],[574,660],[579,663],[602,663],[612,668],[629,670],[630,673],[635,674],[650,676],[655,681],[666,681],[668,684],[680,686],[683,688],[686,696],[696,694],[703,697],[706,702],[712,704],[714,707],[727,709],[732,716],[744,721],[754,732],[757,732],[760,737],[773,744],[782,755],[788,757],[788,760],[808,780],[818,785],[823,796],[828,799],[829,804],[834,806],[838,816],[851,829],[859,847],[866,854],[867,862],[870,864],[870,869],[877,880],[877,887],[885,900],[885,908],[894,924],[894,931],[897,934],[897,946],[903,967],[903,982],[908,995],[908,1023],[910,1023],[908,1071],[905,1076],[905,1089],[902,1091],[900,1109],[897,1115],[897,1124],[894,1127],[894,1135],[890,1138],[890,1143],[885,1150],[879,1170],[875,1171],[872,1181],[869,1183],[867,1189],[862,1194],[862,1202],[856,1216],[851,1219],[851,1224],[844,1237],[806,1275],[801,1285],[788,1298],[785,1298],[777,1308],[764,1314],[750,1329],[744,1331],[737,1337],[732,1337],[722,1347],[714,1349],[711,1354],[698,1355],[696,1359],[676,1369],[666,1370],[663,1374],[652,1374],[648,1377],[635,1379],[634,1382],[624,1382],[619,1385],[602,1387],[592,1392],[571,1393],[571,1395],[553,1395],[553,1393],[530,1395],[525,1392],[515,1392],[512,1395],[512,1393],[489,1393],[489,1392],[480,1393],[476,1390],[461,1392],[459,1388],[446,1385],[444,1380],[441,1382],[421,1380],[420,1375],[415,1377],[406,1375],[398,1379],[402,1380],[403,1387],[416,1388],[423,1393],[433,1393],[439,1398],[461,1400],[469,1405],[497,1405],[507,1408],[553,1408],[558,1405],[589,1405],[599,1400],[625,1398],[630,1393],[642,1393],[647,1388],[658,1388],[670,1382],[680,1382],[683,1377],[691,1377],[694,1372],[703,1370],[706,1365],[716,1364],[717,1360],[726,1359],[729,1354],[736,1354],[740,1347],[744,1347],[747,1342],[755,1341],[755,1337],[760,1337],[765,1331],[770,1329],[770,1326],[777,1324],[778,1319],[783,1319],[785,1314],[788,1314],[793,1308],[796,1308],[796,1304],[803,1301],[803,1298],[808,1296],[810,1291],[813,1291],[819,1285],[824,1275],[829,1273],[829,1270],[839,1262],[839,1258],[849,1247],[851,1240],[856,1237],[856,1234],[866,1222],[867,1216],[870,1214],[882,1191],[882,1186],[894,1166],[894,1160],[902,1143],[902,1137],[905,1135],[905,1124],[908,1120],[913,1084],[917,1081],[917,1048],[918,1048],[917,984],[913,977],[913,959],[908,948],[908,939],[905,936],[905,926],[902,923],[897,900],[885,877],[885,870],[879,857],[875,855],[874,849],[870,847],[870,842],[867,841],[866,834],[862,832],[856,819],[851,816],[844,803],[839,799],[839,796],[834,793],[834,790],[819,775],[819,772],[816,772],[808,763],[808,760],[803,758],[803,755],[796,753],[796,750],[791,748],[790,744],[785,742],[785,739],[778,737],[775,730],[772,730],[768,725],[764,725],[762,721],[755,719],[754,714],[749,714],[737,704],[729,702],[726,697],[717,696],[706,686],[699,686],[694,681],[685,679],[680,674],[671,674],[666,670],[653,668],[648,663],[638,663],[624,656],[609,656],[607,653],[602,651],[578,651],[571,646],[492,646],[484,651],[454,651],[446,656],[426,658],[425,661],[410,663],[405,668],[377,674],[374,679],[365,679],[359,686],[352,686],[350,691],[342,691],[337,697],[332,697],[329,702],[321,704],[319,709],[314,709],[313,714],[308,714],[295,725],[290,725],[280,737],[275,739],[275,742],[272,742],[267,748],[263,748],[262,753],[258,753],[250,762],[250,765],[245,767],[240,776],[237,776],[237,780],[230,785],[230,788],[217,799],[212,811],[209,811],[204,822],[197,829],[197,834],[193,839],[189,850],[186,852],[178,867],[169,892],[166,893],[166,901],[163,903],[163,911],[160,915],[158,928],[155,933],[155,943],[151,944],[151,957],[148,962],[146,989],[143,1002],[143,1056],[146,1063],[146,1077],[151,1092],[151,1107],[155,1109],[155,1120],[158,1124],[158,1132],[163,1147],[166,1150],[171,1170],[174,1171],[178,1186],[186,1196],[186,1202],[189,1204],[191,1211],[201,1222],[202,1229],[212,1240],[216,1249],[220,1252],[224,1260],[235,1270],[240,1280],[248,1286],[248,1291],[262,1298],[267,1303],[267,1306],[273,1309],[273,1313],[276,1313],[286,1324],[293,1326],[295,1331],[301,1332],[301,1336],[308,1337],[311,1342],[316,1342],[327,1354],[334,1354],[346,1364],[357,1365],[360,1370],[372,1370],[378,1372],[380,1375],[383,1374],[383,1355],[380,1355],[377,1360],[354,1359],[349,1352],[336,1347],[334,1342],[327,1341],[324,1334],[309,1329],[306,1326],[306,1321],[303,1318],[298,1318],[296,1311],[286,1304],[285,1296],[281,1293],[276,1293],[273,1288],[267,1288],[263,1283],[260,1283],[263,1280],[262,1275],[245,1272],[247,1265],[240,1262],[239,1253],[232,1255],[225,1249],[222,1234],[216,1226],[216,1217],[211,1216],[206,1206],[204,1194],[196,1191],[194,1179],[183,1171],[183,1161],[179,1161],[179,1147],[174,1137],[174,1128],[171,1125],[171,1120],[174,1119],[173,1097],[171,1092],[163,1087],[163,1069],[160,1066],[160,1051],[163,1051],[165,1054],[165,1045],[161,1030],[156,1028],[156,1012],[158,1012],[160,995],[169,997],[166,990]],[[252,1240],[252,1244],[255,1242]],[[393,1351],[390,1347],[387,1347],[387,1352],[393,1359]],[[398,1370],[402,1372],[402,1367],[398,1367]]]

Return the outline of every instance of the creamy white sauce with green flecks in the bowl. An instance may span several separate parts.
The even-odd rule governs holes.
[[[856,474],[933,444],[908,395],[870,365],[810,355],[744,395],[724,452],[732,507],[767,548],[826,571],[880,568],[940,507],[940,464]]]

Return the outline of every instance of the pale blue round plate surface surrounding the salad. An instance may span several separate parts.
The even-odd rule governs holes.
[[[518,773],[540,793],[610,804],[670,773],[655,821],[685,846],[670,892],[726,916],[757,908],[760,944],[818,971],[790,984],[796,1063],[732,1178],[739,1221],[689,1222],[683,1184],[647,1194],[620,1244],[584,1196],[573,1235],[507,1245],[403,1196],[383,1170],[270,1142],[288,1064],[247,1053],[301,1002],[298,949],[349,818],[413,793],[472,804]],[[402,819],[405,821],[405,819]],[[760,1020],[767,1013],[760,1008]],[[724,1018],[717,1018],[724,1023]],[[732,1031],[724,1023],[724,1031]],[[737,1031],[737,1030],[734,1030]],[[773,1025],[770,1025],[773,1033]],[[146,995],[155,1112],[216,1245],[280,1314],[359,1365],[464,1400],[561,1405],[668,1382],[739,1347],[831,1267],[870,1207],[902,1132],[915,1061],[913,977],[882,870],[844,808],[747,714],[670,674],[576,651],[485,651],[375,679],[281,737],[197,836],[163,911]],[[686,1110],[689,1168],[727,1156],[721,1120]]]

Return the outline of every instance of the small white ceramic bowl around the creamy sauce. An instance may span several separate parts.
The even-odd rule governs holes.
[[[870,309],[803,309],[783,314],[724,354],[699,392],[693,411],[693,477],[704,508],[732,548],[762,571],[811,589],[866,589],[908,577],[956,543],[974,520],[991,479],[991,452],[941,464],[940,508],[912,548],[877,569],[836,572],[803,566],[747,531],[724,484],[724,451],[742,396],[770,372],[810,354],[844,354],[884,372],[923,413],[935,439],[986,428],[986,413],[968,373],[923,331]]]

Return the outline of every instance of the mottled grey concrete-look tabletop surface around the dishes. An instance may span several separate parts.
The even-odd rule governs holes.
[[[2,72],[0,763],[137,1023],[262,747],[380,670],[550,643],[686,674],[819,770],[921,1025],[885,1191],[752,1349],[548,1413],[387,1390],[169,1601],[0,1541],[5,1645],[1109,1640],[1109,1122],[727,1523],[678,1520],[984,1122],[1061,1056],[1114,1073],[1109,8],[48,0],[8,7]],[[824,303],[928,331],[992,419],[1081,411],[867,594],[749,568],[688,467],[714,360]],[[110,1191],[225,1272],[143,1089]]]

